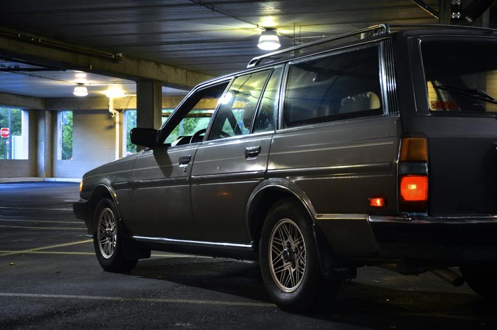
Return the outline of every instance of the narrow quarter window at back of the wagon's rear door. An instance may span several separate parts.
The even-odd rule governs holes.
[[[257,116],[253,124],[253,132],[273,131],[276,123],[276,114],[279,101],[279,83],[283,68],[276,68],[271,73],[271,77],[262,93]]]

